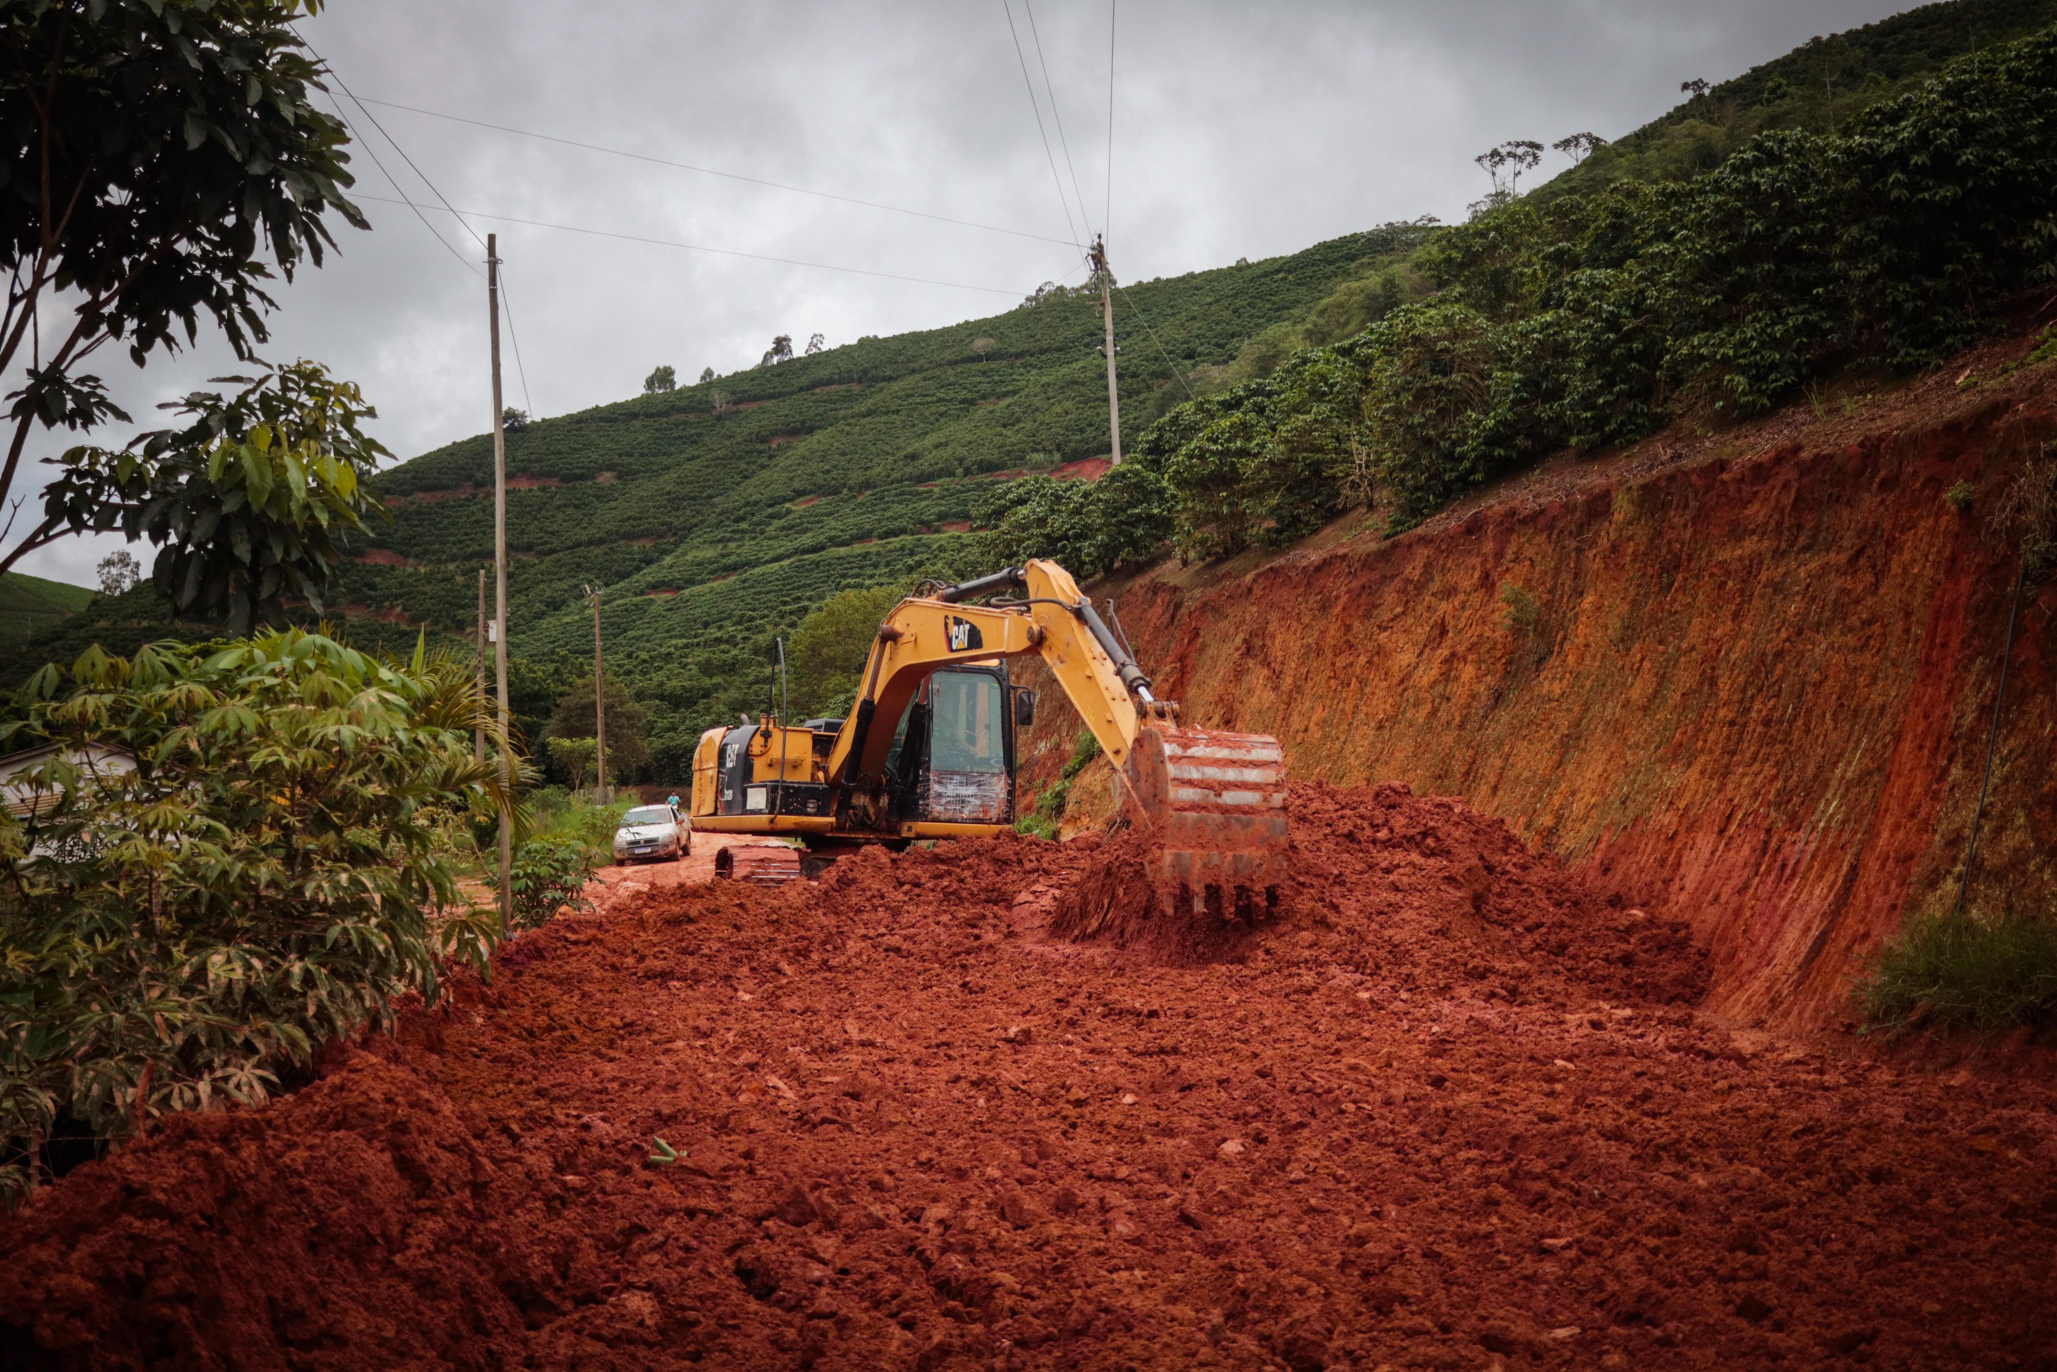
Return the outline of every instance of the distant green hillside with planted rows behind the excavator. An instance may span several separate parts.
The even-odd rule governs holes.
[[[1123,428],[1142,432],[1273,325],[1362,329],[1354,282],[1386,272],[1417,237],[1372,230],[1127,286]],[[837,590],[969,568],[965,531],[994,481],[1107,457],[1098,341],[1098,294],[1057,288],[989,319],[866,337],[510,434],[508,619],[527,664],[514,685],[529,695],[516,712],[537,728],[549,693],[584,671],[582,586],[603,586],[611,671],[654,708],[656,769],[683,775],[701,728],[763,699],[775,634]],[[329,615],[360,646],[411,644],[426,623],[469,652],[477,570],[492,557],[492,438],[426,453],[376,485],[393,522],[348,568]],[[212,631],[152,607],[148,588],[130,592],[43,634],[37,656]]]

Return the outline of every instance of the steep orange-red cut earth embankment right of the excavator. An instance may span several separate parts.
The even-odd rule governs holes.
[[[2057,434],[2053,368],[1958,370],[1109,590],[1185,720],[1275,734],[1300,780],[1465,796],[1691,922],[1716,1008],[1833,1024],[1857,959],[1956,893],[2016,572],[1993,512]],[[1057,714],[1031,757],[1068,751]],[[2022,605],[1983,909],[2057,909],[2053,718],[2057,584]]]

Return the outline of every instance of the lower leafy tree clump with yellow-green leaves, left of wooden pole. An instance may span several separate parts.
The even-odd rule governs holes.
[[[165,405],[191,418],[185,428],[60,457],[43,522],[158,543],[152,580],[173,609],[241,634],[288,594],[321,611],[337,539],[385,516],[364,481],[391,453],[362,430],[378,411],[319,362],[218,381],[243,389]]]

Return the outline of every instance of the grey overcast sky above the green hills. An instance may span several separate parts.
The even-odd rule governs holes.
[[[1681,80],[1722,80],[1810,35],[1909,8],[1119,0],[1109,206],[1109,6],[1043,0],[1033,35],[1024,0],[1008,2],[1012,10],[1002,0],[331,0],[302,31],[448,204],[475,214],[471,228],[500,234],[522,362],[518,374],[508,346],[508,403],[557,416],[636,395],[660,362],[681,383],[703,366],[749,366],[775,333],[796,346],[823,333],[833,348],[998,313],[1045,280],[1078,282],[1072,241],[1103,226],[1115,274],[1148,280],[1386,220],[1456,220],[1489,189],[1471,158],[1495,142],[1547,144],[1582,130],[1613,138],[1676,103]],[[376,200],[436,195],[356,105],[344,101],[344,111],[358,130],[356,191],[372,232],[337,222],[341,251],[280,292],[263,356],[319,358],[358,381],[378,407],[376,436],[413,457],[490,424],[483,249],[440,206],[424,226],[413,210]],[[156,420],[152,405],[232,362],[202,348],[136,372],[113,354],[97,360],[144,422]],[[62,446],[37,438],[31,453]],[[19,566],[91,584],[93,564],[117,545],[60,543]],[[150,551],[138,555],[148,566]]]

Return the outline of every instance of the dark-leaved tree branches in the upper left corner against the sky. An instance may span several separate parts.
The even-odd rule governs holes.
[[[321,70],[292,21],[321,0],[95,0],[8,4],[0,10],[0,372],[21,368],[8,395],[12,434],[0,463],[0,504],[14,529],[29,436],[128,420],[99,376],[78,366],[123,341],[142,366],[191,341],[202,321],[251,360],[265,341],[263,290],[321,265],[333,247],[325,214],[368,228],[341,187],[352,183],[341,121],[311,103]],[[177,461],[163,450],[156,457]],[[132,453],[128,463],[152,463]],[[144,485],[152,475],[144,473]],[[352,504],[352,498],[344,498]],[[72,504],[0,553],[0,570],[80,529],[105,527]],[[234,522],[234,537],[302,541],[290,512]],[[230,527],[187,525],[171,541],[216,566]],[[315,568],[298,564],[298,570]],[[193,599],[220,599],[200,594]]]

